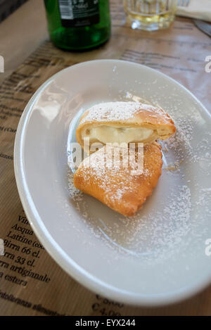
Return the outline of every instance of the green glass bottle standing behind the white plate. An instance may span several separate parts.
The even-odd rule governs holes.
[[[44,0],[49,34],[62,49],[83,50],[110,37],[108,0]]]

